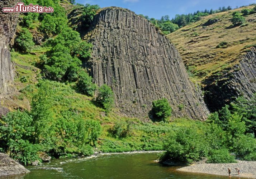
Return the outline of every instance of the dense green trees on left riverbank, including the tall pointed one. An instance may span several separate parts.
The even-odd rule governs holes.
[[[32,97],[31,111],[9,112],[0,121],[0,150],[25,165],[39,160],[38,152],[92,154],[101,134],[100,122],[85,119],[72,109],[54,117],[53,105],[63,98],[58,83],[41,81]],[[56,91],[57,90],[57,91]]]

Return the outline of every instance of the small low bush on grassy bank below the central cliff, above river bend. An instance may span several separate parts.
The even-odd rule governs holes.
[[[109,132],[117,137],[127,137],[128,135],[131,134],[131,126],[132,123],[127,123],[127,122],[116,122],[114,126],[112,126],[109,130]]]

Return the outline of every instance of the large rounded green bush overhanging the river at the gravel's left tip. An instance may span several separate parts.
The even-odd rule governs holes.
[[[209,146],[196,129],[180,127],[167,136],[163,149],[166,153],[161,160],[170,159],[193,163],[208,154]]]

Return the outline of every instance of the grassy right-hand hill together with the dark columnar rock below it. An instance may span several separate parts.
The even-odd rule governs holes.
[[[250,5],[201,17],[167,35],[179,50],[191,80],[201,83],[210,112],[240,95],[250,98],[256,92],[256,13],[243,15],[243,25],[231,22],[235,11],[253,8]]]

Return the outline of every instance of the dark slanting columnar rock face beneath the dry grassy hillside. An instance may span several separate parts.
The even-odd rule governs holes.
[[[242,55],[241,61],[231,72],[213,76],[205,83],[205,103],[210,111],[219,110],[240,95],[251,98],[256,93],[256,49],[251,48],[250,52]]]

